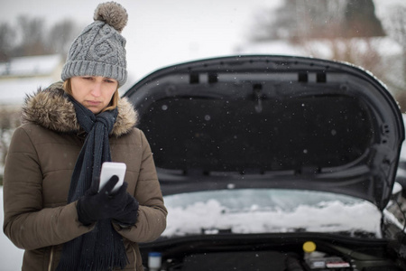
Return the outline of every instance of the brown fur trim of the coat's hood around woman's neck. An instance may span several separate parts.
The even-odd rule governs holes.
[[[138,114],[126,98],[118,101],[118,116],[112,135],[127,134],[137,123]],[[52,131],[69,133],[79,132],[75,107],[64,96],[62,82],[52,84],[47,89],[38,89],[27,95],[23,105],[23,123],[35,123]]]

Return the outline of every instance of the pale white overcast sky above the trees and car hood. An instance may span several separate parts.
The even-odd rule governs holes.
[[[18,15],[43,16],[46,23],[63,18],[83,26],[93,21],[101,0],[0,0],[0,22],[15,23]],[[129,14],[127,40],[129,80],[163,66],[235,53],[247,42],[254,16],[281,0],[118,0]],[[375,0],[377,13],[404,0]]]

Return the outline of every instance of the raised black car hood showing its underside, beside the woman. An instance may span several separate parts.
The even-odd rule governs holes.
[[[125,93],[163,194],[239,187],[337,192],[383,210],[404,138],[370,73],[291,56],[230,56],[153,72]]]

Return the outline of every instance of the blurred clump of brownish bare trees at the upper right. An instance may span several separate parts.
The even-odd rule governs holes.
[[[285,0],[258,14],[254,41],[383,36],[373,0]]]

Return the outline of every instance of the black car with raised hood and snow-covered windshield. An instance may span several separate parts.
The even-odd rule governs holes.
[[[406,270],[404,126],[379,79],[307,57],[156,70],[124,95],[168,208],[146,270]]]

